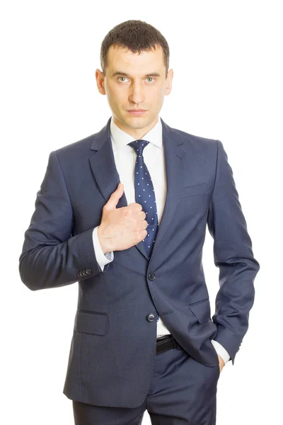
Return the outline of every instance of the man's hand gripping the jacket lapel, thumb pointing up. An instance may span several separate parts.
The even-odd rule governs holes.
[[[98,240],[103,253],[122,251],[137,245],[147,235],[146,213],[139,203],[131,203],[127,207],[116,208],[124,192],[124,186],[119,183],[108,203],[103,207],[101,223],[98,227]]]

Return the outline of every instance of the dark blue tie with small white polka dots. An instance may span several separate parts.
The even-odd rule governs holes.
[[[156,234],[158,232],[158,217],[156,209],[156,199],[154,193],[154,185],[151,181],[149,170],[144,164],[143,150],[149,145],[146,140],[134,140],[128,143],[137,154],[137,160],[134,167],[134,191],[136,202],[142,207],[146,213],[145,220],[149,223],[146,227],[147,235],[144,238],[144,249],[146,254],[151,256],[151,250],[154,246]]]

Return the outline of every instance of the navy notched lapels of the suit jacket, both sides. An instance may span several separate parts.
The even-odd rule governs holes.
[[[91,169],[93,176],[96,179],[98,188],[105,198],[105,203],[108,202],[110,195],[114,192],[120,183],[119,174],[115,166],[115,157],[112,150],[112,142],[110,136],[110,120],[105,127],[93,136],[91,143],[91,149],[97,151],[90,159]],[[178,205],[178,198],[182,188],[182,157],[183,151],[181,146],[183,142],[175,137],[173,130],[164,123],[162,123],[162,137],[164,147],[164,157],[166,165],[166,203],[164,205],[163,215],[161,217],[156,234],[156,240],[151,253],[151,260],[154,253],[158,249],[158,245],[161,243],[166,229],[171,225],[171,221],[174,217],[175,208]],[[174,136],[174,137],[173,137]],[[122,194],[120,200],[117,203],[117,208],[127,206],[127,198],[125,192]],[[163,241],[165,243],[165,241]],[[141,241],[135,245],[137,249],[143,254],[146,259],[149,259],[144,250],[144,243]]]

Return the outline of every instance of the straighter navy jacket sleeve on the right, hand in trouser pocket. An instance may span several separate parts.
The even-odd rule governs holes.
[[[214,340],[226,348],[234,364],[248,330],[249,311],[255,297],[253,282],[260,264],[253,256],[227,154],[219,140],[216,140],[216,147],[216,175],[207,216],[209,233],[214,239],[214,263],[219,268],[220,286],[212,320],[217,326]]]

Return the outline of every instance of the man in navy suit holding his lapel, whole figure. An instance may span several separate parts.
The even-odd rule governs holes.
[[[260,268],[219,140],[159,118],[171,92],[168,44],[126,21],[103,40],[100,132],[50,153],[19,270],[30,290],[79,280],[64,394],[76,425],[212,425]],[[127,198],[126,198],[127,196]],[[162,220],[161,220],[162,217]],[[219,267],[211,318],[206,225]]]

